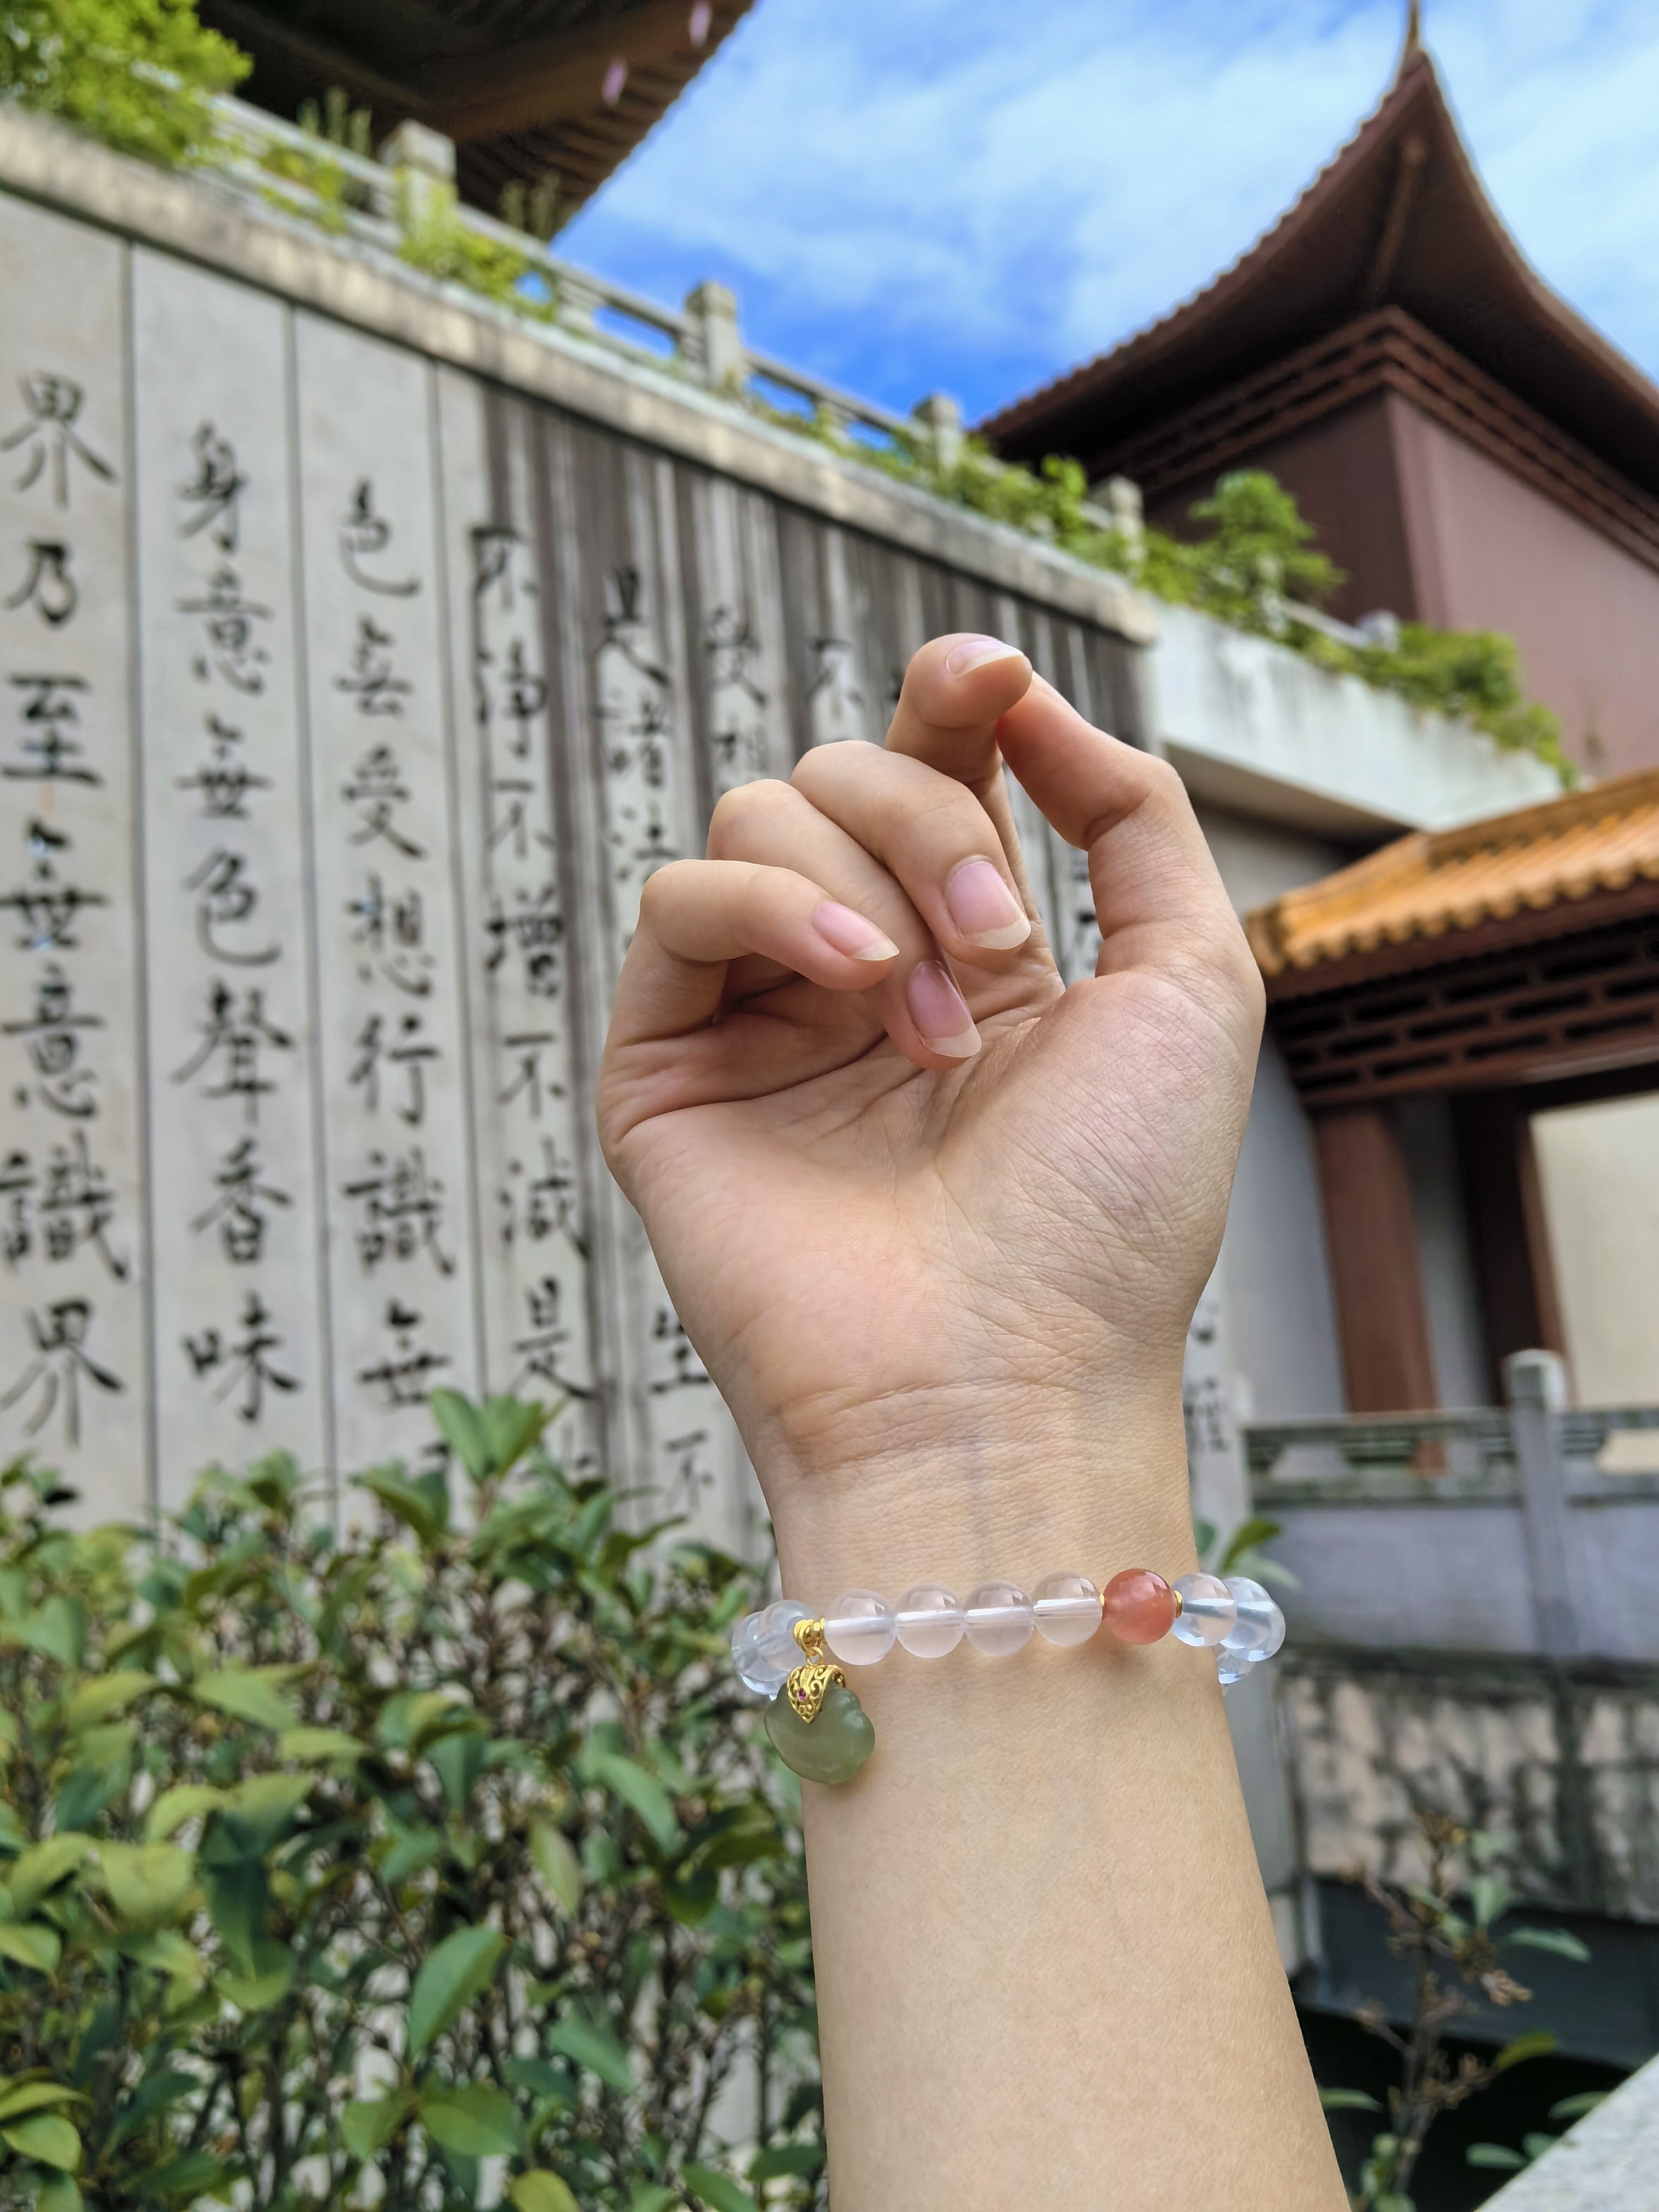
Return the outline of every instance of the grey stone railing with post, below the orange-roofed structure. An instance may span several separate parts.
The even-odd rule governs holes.
[[[1256,1511],[1301,1582],[1292,1632],[1659,1661],[1659,1436],[1632,1473],[1615,1442],[1659,1407],[1568,1407],[1546,1352],[1506,1385],[1506,1407],[1245,1427]]]

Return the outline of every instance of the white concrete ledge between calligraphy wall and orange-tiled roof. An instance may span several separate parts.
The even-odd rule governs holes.
[[[1314,834],[1451,830],[1562,792],[1531,754],[1186,606],[1159,613],[1152,686],[1194,799]]]

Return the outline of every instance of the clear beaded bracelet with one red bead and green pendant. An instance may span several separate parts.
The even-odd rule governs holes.
[[[1048,1575],[1035,1599],[1013,1582],[982,1582],[964,1606],[936,1582],[905,1590],[898,1608],[874,1590],[843,1590],[823,1617],[785,1597],[732,1628],[732,1666],[745,1688],[770,1699],[765,1732],[785,1767],[812,1783],[847,1783],[876,1750],[847,1666],[874,1666],[894,1644],[916,1659],[942,1659],[962,1637],[987,1659],[1006,1659],[1033,1632],[1048,1644],[1086,1644],[1102,1626],[1119,1644],[1175,1635],[1212,1650],[1223,1688],[1285,1641],[1285,1615],[1248,1575],[1166,1582],[1130,1566],[1104,1590],[1088,1575]]]

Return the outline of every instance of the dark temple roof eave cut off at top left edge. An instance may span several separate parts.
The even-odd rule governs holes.
[[[456,139],[462,197],[560,181],[571,210],[635,150],[752,0],[199,0],[254,58],[243,97],[292,117],[332,86],[374,137]],[[626,69],[617,69],[622,62]]]

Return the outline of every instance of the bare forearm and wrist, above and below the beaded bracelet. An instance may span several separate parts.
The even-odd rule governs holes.
[[[1192,1566],[1168,1385],[790,1493],[783,1586],[810,1604]],[[1208,1655],[962,1644],[849,1683],[876,1756],[803,1787],[836,2212],[1336,2212]]]

